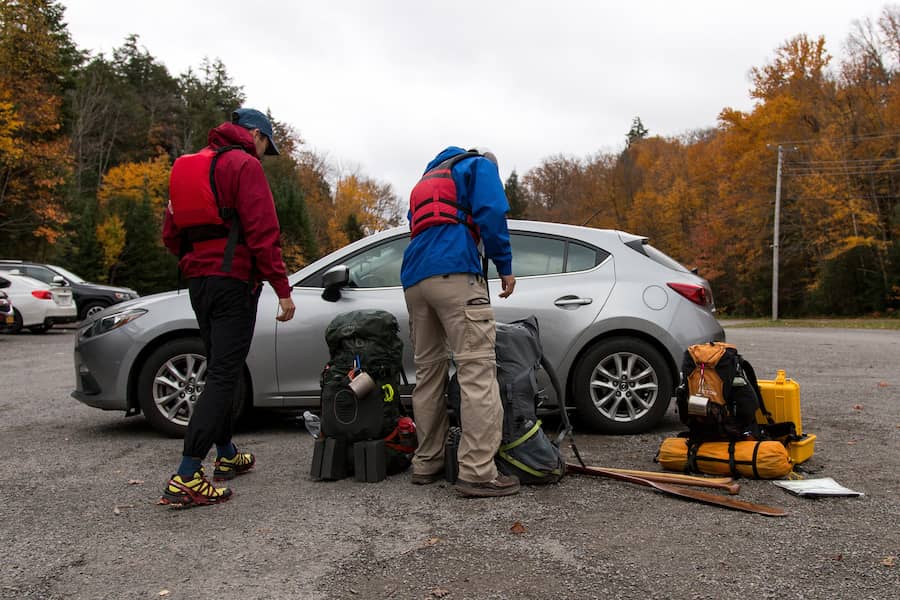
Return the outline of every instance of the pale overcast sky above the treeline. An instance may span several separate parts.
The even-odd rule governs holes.
[[[129,34],[173,75],[219,58],[247,106],[270,109],[345,171],[401,200],[449,145],[484,146],[504,179],[545,157],[711,127],[751,110],[748,72],[787,39],[839,58],[870,0],[64,0],[83,49]]]

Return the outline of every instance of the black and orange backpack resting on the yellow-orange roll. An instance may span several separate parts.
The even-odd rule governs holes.
[[[675,394],[678,416],[692,442],[783,439],[793,423],[775,423],[759,391],[756,373],[732,344],[709,342],[688,347]],[[756,412],[767,424],[756,422]]]

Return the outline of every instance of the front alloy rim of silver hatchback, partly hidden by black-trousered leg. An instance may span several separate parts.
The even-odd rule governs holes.
[[[179,354],[164,362],[153,378],[153,402],[170,422],[187,426],[206,385],[206,357]]]

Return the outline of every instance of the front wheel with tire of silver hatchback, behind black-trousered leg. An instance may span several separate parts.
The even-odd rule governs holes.
[[[178,338],[161,345],[144,361],[138,375],[138,403],[150,425],[163,435],[183,438],[187,432],[194,403],[206,381],[205,354],[200,338]],[[241,392],[233,407],[235,423],[248,404],[244,380],[242,374],[238,381]]]

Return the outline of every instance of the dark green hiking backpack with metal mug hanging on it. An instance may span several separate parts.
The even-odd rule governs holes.
[[[400,378],[403,342],[397,319],[383,310],[356,310],[332,319],[325,330],[331,359],[321,376],[324,437],[347,442],[384,439],[402,414]],[[374,380],[361,397],[353,380]],[[361,380],[360,380],[361,381]]]

